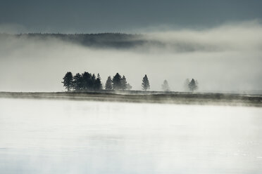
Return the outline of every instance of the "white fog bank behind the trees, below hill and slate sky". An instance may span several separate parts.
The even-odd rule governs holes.
[[[1,29],[0,29],[1,31]],[[0,40],[0,91],[63,91],[66,72],[116,72],[140,90],[149,76],[151,90],[164,79],[172,91],[182,91],[185,79],[199,81],[199,91],[262,89],[262,25],[232,23],[212,29],[150,32],[148,45],[132,49],[88,48],[57,39]],[[154,46],[151,41],[160,41]]]

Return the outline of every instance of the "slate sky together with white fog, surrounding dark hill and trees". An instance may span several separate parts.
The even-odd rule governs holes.
[[[89,48],[58,39],[0,37],[0,91],[64,91],[66,72],[116,72],[133,90],[144,74],[151,91],[166,79],[185,91],[262,93],[262,1],[12,1],[0,0],[0,33],[142,33],[145,43],[127,50]],[[152,43],[154,43],[152,42]]]

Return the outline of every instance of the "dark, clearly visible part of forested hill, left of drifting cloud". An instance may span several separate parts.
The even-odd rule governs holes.
[[[141,34],[121,34],[121,33],[101,33],[101,34],[0,34],[0,39],[8,39],[15,36],[17,39],[60,39],[70,41],[74,44],[92,47],[109,47],[109,48],[132,48],[145,44]]]

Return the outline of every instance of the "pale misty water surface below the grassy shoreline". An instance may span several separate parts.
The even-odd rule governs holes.
[[[262,173],[262,109],[0,99],[0,173]]]

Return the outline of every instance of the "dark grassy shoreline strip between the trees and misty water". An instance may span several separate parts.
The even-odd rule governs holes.
[[[0,98],[87,100],[100,102],[144,102],[182,105],[229,105],[262,107],[262,95],[241,95],[225,93],[163,93],[163,92],[54,92],[18,93],[0,92]]]

